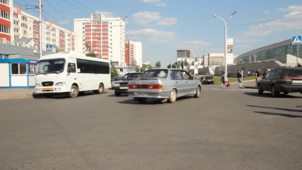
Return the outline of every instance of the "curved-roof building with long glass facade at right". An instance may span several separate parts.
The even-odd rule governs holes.
[[[298,49],[297,49],[298,48]],[[292,41],[286,40],[269,46],[265,46],[247,53],[244,53],[234,59],[235,64],[250,64],[265,61],[277,60],[277,56],[286,56],[291,54],[293,56],[300,56],[302,52],[302,45],[292,45]]]

